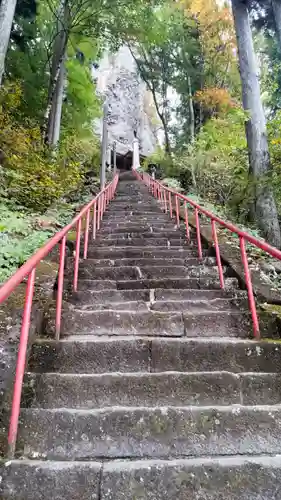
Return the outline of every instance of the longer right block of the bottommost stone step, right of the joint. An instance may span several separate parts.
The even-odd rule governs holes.
[[[100,498],[279,500],[280,483],[280,456],[113,461],[104,465]]]

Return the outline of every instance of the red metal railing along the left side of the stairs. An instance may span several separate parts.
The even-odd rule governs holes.
[[[74,277],[73,290],[77,290],[78,271],[80,261],[80,245],[82,235],[82,221],[85,220],[84,231],[84,249],[83,258],[88,255],[88,245],[90,236],[90,221],[92,217],[92,238],[96,238],[96,232],[100,228],[100,223],[107,205],[113,199],[118,183],[118,174],[113,181],[108,184],[90,203],[88,203],[81,212],[73,219],[73,221],[65,226],[61,231],[55,234],[40,250],[38,250],[4,285],[0,288],[0,304],[4,302],[16,287],[27,277],[25,304],[23,309],[23,319],[21,325],[21,334],[19,341],[18,357],[16,364],[16,375],[14,384],[14,393],[12,401],[12,410],[10,417],[10,426],[8,434],[8,453],[12,458],[15,453],[18,421],[20,414],[20,403],[22,394],[22,384],[24,371],[26,366],[26,353],[28,345],[28,336],[30,329],[32,300],[34,293],[36,267],[42,259],[44,259],[56,245],[60,245],[60,259],[58,272],[58,287],[56,297],[56,340],[60,338],[61,331],[61,314],[62,314],[62,297],[64,285],[64,265],[65,265],[65,247],[67,234],[73,228],[76,228],[76,245],[74,257]]]

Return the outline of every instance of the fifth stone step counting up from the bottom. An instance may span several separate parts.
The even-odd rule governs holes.
[[[143,308],[141,308],[143,309]],[[54,311],[50,312],[45,334],[54,335]],[[146,335],[162,337],[246,337],[251,332],[248,314],[242,311],[196,310],[194,312],[94,311],[74,308],[65,302],[62,312],[63,336]]]

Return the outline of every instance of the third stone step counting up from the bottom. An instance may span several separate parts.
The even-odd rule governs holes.
[[[217,372],[29,373],[23,401],[32,408],[279,405],[281,374]],[[23,406],[23,405],[22,405]]]

